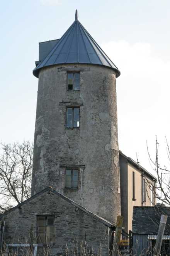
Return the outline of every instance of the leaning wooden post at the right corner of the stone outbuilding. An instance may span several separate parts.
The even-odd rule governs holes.
[[[123,225],[123,216],[118,215],[117,223],[116,223],[116,232],[115,232],[114,242],[113,242],[112,256],[119,255],[119,243],[121,239],[122,225]]]

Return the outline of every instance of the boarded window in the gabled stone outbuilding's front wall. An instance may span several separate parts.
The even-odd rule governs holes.
[[[46,244],[54,241],[54,217],[37,216],[38,243]]]

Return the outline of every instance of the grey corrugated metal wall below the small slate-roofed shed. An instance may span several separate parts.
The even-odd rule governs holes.
[[[133,234],[133,255],[146,255],[146,250],[149,249],[148,235]]]

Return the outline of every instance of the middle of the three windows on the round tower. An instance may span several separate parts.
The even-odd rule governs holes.
[[[67,108],[67,127],[79,127],[79,116],[80,108],[79,107],[68,107]]]

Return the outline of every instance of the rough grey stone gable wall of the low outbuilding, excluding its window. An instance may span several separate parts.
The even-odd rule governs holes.
[[[1,215],[6,221],[6,244],[30,243],[30,230],[33,243],[37,244],[37,216],[43,214],[54,216],[54,241],[48,244],[51,254],[65,255],[67,244],[73,255],[77,238],[79,249],[80,242],[86,240],[88,248],[93,246],[93,251],[98,252],[101,246],[102,255],[108,255],[112,224],[50,188]],[[37,255],[41,255],[44,248],[47,249],[46,244],[39,244]]]

